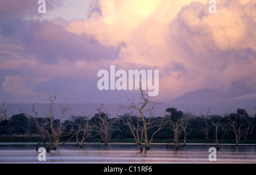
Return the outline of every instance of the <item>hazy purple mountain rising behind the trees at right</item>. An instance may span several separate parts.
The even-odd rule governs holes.
[[[212,115],[235,113],[237,109],[242,108],[246,109],[251,116],[254,116],[256,94],[246,94],[232,98],[216,89],[201,89],[166,102],[166,105],[174,106],[183,111],[188,110],[195,114],[198,114],[199,111],[206,112],[210,107],[210,114]]]

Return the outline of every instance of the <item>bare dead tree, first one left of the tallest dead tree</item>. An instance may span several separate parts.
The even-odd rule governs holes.
[[[98,113],[94,116],[93,130],[101,136],[101,140],[105,145],[108,145],[114,132],[118,130],[117,123],[119,122],[119,119],[109,119],[109,112],[108,110],[103,111],[103,106],[104,105],[101,105],[100,108],[97,108]]]

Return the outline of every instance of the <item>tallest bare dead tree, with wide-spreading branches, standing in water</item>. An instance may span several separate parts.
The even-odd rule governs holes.
[[[143,151],[141,146],[142,141],[145,143],[146,149],[150,149],[150,144],[157,132],[162,130],[166,126],[166,120],[162,118],[158,120],[153,117],[155,106],[162,103],[152,102],[148,99],[148,95],[144,94],[142,86],[140,85],[141,100],[137,104],[134,100],[128,98],[128,101],[131,103],[130,106],[121,106],[122,109],[128,110],[130,113],[129,118],[123,118],[123,123],[126,126],[129,126],[131,133],[134,136],[137,147]],[[148,117],[146,117],[148,115]],[[133,119],[135,118],[135,119]],[[152,135],[150,140],[148,137],[148,130],[151,128],[158,128]]]

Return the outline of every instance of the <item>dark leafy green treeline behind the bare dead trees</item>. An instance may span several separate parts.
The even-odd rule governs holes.
[[[82,126],[86,126],[86,124],[89,124],[88,130],[91,131],[88,133],[89,137],[87,137],[87,139],[100,139],[100,135],[95,131],[96,128],[93,129],[93,127],[100,127],[100,121],[97,122],[97,120],[99,120],[97,115],[98,114],[96,114],[91,119],[84,118],[84,116],[72,116],[71,119],[65,120],[63,124],[66,127],[63,131],[63,136],[61,136],[61,139],[68,139],[69,136],[72,135],[72,133],[75,134],[76,131],[82,130]],[[111,128],[113,133],[112,135],[108,135],[108,141],[110,141],[112,138],[119,140],[133,138],[129,126],[126,126],[121,118],[110,119],[108,118],[108,115],[104,113],[102,113],[101,116],[106,119],[106,123],[112,123]],[[128,114],[123,115],[123,117],[127,116]],[[187,139],[205,139],[207,143],[209,143],[209,140],[214,140],[216,135],[216,126],[214,126],[212,122],[221,122],[220,128],[218,130],[218,135],[224,134],[225,132],[224,140],[235,140],[236,134],[233,131],[233,122],[229,121],[230,116],[233,117],[235,122],[237,120],[237,133],[239,132],[240,123],[242,124],[240,129],[240,136],[243,141],[256,140],[256,119],[248,117],[246,120],[246,118],[242,119],[240,118],[240,116],[236,119],[236,114],[229,114],[226,116],[210,115],[207,118],[205,116],[190,115],[187,123],[188,127],[186,129],[188,133]],[[155,120],[158,121],[159,119],[162,119],[162,117],[155,118]],[[37,120],[40,126],[44,126],[46,127],[46,130],[50,130],[50,118],[38,118]],[[134,122],[135,120],[136,119],[134,117]],[[59,125],[60,119],[54,120],[53,124],[56,126]],[[227,124],[228,126],[226,127],[226,130],[223,130],[221,126],[225,124]],[[151,137],[154,131],[155,128],[150,128],[150,130],[148,131],[148,137]],[[27,138],[30,138],[34,135],[40,136],[40,132],[38,130],[38,127],[36,127],[36,122],[33,118],[28,118],[26,114],[18,114],[13,115],[10,119],[2,120],[2,122],[0,123],[0,135],[9,135],[10,139],[13,138],[14,135],[24,135],[27,136]],[[82,138],[82,135],[84,135],[84,133],[81,131],[77,135],[77,138]],[[184,138],[183,131],[182,133],[180,133],[179,138]],[[222,137],[220,136],[220,138]],[[76,138],[72,139],[75,140]],[[171,128],[169,124],[167,128],[163,128],[161,131],[159,131],[158,134],[155,135],[154,139],[174,139],[174,129]],[[42,142],[44,141],[46,142],[47,138],[43,136]],[[106,143],[108,143],[108,141]],[[102,139],[102,142],[104,142],[104,139]]]

